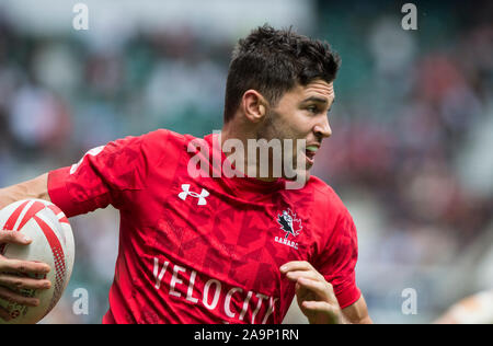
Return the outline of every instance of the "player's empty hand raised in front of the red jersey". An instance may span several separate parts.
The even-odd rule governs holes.
[[[332,285],[308,262],[289,262],[280,273],[296,282],[296,298],[310,324],[345,323]]]

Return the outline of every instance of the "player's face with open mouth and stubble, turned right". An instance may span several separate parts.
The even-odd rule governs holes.
[[[332,135],[328,112],[334,99],[333,83],[318,79],[306,86],[297,85],[267,111],[265,126],[259,134],[260,138],[267,140],[293,140],[293,166],[307,180],[322,140]],[[299,146],[300,140],[306,141],[306,147]],[[283,154],[286,157],[289,155]],[[285,163],[283,160],[283,166]]]

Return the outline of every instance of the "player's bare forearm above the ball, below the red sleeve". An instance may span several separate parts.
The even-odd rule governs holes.
[[[48,173],[16,185],[0,188],[0,209],[18,200],[37,198],[51,201],[48,195]]]

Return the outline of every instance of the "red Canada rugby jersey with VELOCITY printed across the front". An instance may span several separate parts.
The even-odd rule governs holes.
[[[192,140],[209,153],[187,150]],[[333,189],[313,176],[301,189],[283,180],[191,176],[191,159],[206,169],[218,162],[214,141],[160,129],[49,173],[49,196],[68,217],[110,204],[119,210],[103,323],[282,323],[295,284],[279,266],[290,261],[323,274],[341,308],[356,302],[356,229]]]

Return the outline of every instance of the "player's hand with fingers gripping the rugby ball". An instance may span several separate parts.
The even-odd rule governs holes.
[[[31,242],[21,232],[0,230],[0,244],[28,245]],[[51,282],[45,279],[49,270],[49,266],[44,263],[10,260],[0,255],[0,298],[21,305],[37,307],[37,298],[24,297],[20,290],[49,289]],[[0,307],[0,318],[10,320],[10,312]]]

